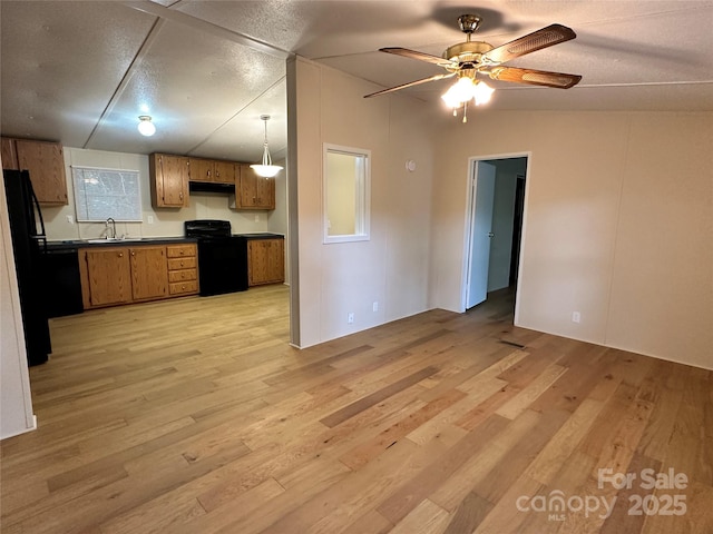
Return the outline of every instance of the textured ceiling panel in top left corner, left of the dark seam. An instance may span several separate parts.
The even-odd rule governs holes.
[[[154,20],[111,2],[0,2],[2,134],[81,146]]]

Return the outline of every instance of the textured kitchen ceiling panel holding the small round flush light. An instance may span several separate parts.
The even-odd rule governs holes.
[[[164,146],[172,151],[217,157],[206,146],[213,132],[248,106],[265,88],[284,79],[285,62],[184,24],[164,22],[138,58],[138,66],[87,148],[108,150],[129,134],[135,148]],[[148,141],[136,131],[149,115],[157,134]]]

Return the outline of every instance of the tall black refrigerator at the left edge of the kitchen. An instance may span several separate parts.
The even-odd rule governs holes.
[[[51,350],[43,295],[45,221],[27,170],[3,170],[4,191],[14,250],[18,293],[29,365],[47,362]]]

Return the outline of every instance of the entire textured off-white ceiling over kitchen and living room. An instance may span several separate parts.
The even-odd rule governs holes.
[[[2,0],[2,135],[252,161],[268,113],[279,158],[292,53],[391,87],[442,70],[379,48],[440,56],[470,12],[496,47],[553,22],[577,33],[508,63],[582,75],[577,87],[494,82],[494,109],[713,110],[713,1]],[[448,83],[402,93],[437,108]],[[153,138],[139,115],[154,117]]]

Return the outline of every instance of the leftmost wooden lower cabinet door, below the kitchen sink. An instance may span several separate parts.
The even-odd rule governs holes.
[[[131,301],[128,248],[86,249],[88,304],[109,306]]]

